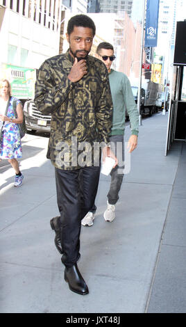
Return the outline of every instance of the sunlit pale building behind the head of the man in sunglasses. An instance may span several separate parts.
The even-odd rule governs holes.
[[[100,42],[110,42],[115,49],[116,59],[112,67],[124,72],[128,77],[139,77],[142,25],[135,27],[125,13],[92,13],[89,15],[96,24],[96,38]],[[107,26],[103,29],[103,26]],[[95,50],[99,43],[94,40]],[[94,50],[94,45],[92,49]],[[95,53],[94,50],[94,53]],[[93,55],[94,55],[93,53]]]

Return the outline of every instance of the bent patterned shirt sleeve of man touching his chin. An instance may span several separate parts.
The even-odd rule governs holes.
[[[67,78],[67,74],[63,75],[60,83],[56,83],[55,77],[51,73],[51,67],[45,61],[37,72],[35,82],[34,102],[37,109],[44,114],[53,113],[65,102],[72,88],[74,88],[74,83]]]

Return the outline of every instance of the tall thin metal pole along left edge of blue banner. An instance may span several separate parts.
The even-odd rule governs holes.
[[[143,49],[144,49],[144,15],[145,15],[145,4],[146,0],[144,0],[144,8],[143,8],[143,17],[142,17],[142,40],[141,40],[141,54],[140,54],[140,77],[139,77],[139,86],[138,86],[138,94],[137,94],[137,110],[139,113],[139,125],[142,125],[142,115],[141,115],[141,88],[142,88],[142,60],[143,60]]]

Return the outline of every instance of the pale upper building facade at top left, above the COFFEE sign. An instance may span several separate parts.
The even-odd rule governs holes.
[[[61,12],[61,0],[0,0],[0,63],[38,68],[58,54]]]

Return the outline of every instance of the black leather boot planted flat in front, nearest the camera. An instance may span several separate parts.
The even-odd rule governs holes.
[[[85,295],[89,293],[85,280],[78,270],[77,264],[69,268],[65,268],[65,281],[69,283],[69,289],[72,292]]]

